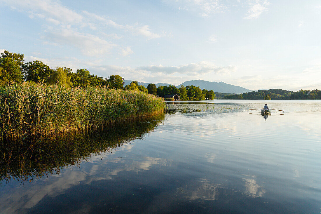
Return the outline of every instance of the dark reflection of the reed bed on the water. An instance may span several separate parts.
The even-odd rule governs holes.
[[[64,168],[110,152],[149,135],[164,114],[111,124],[86,131],[59,133],[24,140],[3,140],[0,145],[0,185],[37,180]]]

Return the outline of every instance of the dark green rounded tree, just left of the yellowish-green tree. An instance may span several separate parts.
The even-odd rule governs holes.
[[[48,65],[43,64],[43,62],[39,60],[25,63],[22,66],[22,70],[25,75],[25,80],[34,81],[36,83],[39,81],[48,83],[53,72]]]

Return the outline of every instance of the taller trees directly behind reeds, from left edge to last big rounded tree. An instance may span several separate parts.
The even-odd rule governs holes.
[[[23,53],[10,53],[5,50],[0,57],[0,85],[10,82],[58,84],[66,87],[106,86],[109,88],[123,88],[121,76],[112,75],[108,78],[91,75],[87,69],[50,68],[39,60],[24,62]]]

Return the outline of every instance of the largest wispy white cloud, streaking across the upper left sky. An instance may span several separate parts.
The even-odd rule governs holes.
[[[43,44],[70,45],[80,49],[81,53],[87,56],[101,56],[110,53],[113,48],[119,47],[100,38],[101,35],[112,39],[122,38],[116,33],[111,33],[110,29],[108,29],[108,33],[101,32],[106,30],[107,26],[124,32],[128,31],[133,35],[141,35],[147,39],[160,38],[166,34],[154,33],[148,25],[139,25],[138,23],[122,25],[108,19],[107,16],[87,11],[78,13],[56,0],[0,0],[1,2],[12,8],[17,8],[18,11],[29,13],[31,19],[44,20],[47,25],[43,26],[47,28],[44,30],[44,35],[41,36],[41,39],[44,40]],[[89,28],[91,33],[82,33],[86,32],[84,28]],[[97,32],[98,29],[100,32]],[[118,51],[124,56],[133,53],[128,48]]]

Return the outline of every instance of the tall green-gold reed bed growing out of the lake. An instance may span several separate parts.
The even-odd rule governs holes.
[[[0,87],[0,137],[25,137],[164,112],[162,99],[140,91],[46,84]]]

